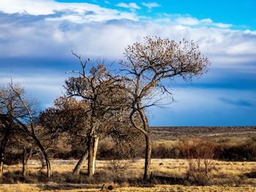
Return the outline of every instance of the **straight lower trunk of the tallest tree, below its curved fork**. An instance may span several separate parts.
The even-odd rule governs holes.
[[[145,169],[143,180],[148,180],[151,173],[151,134],[145,135],[146,139],[146,153],[145,153]]]

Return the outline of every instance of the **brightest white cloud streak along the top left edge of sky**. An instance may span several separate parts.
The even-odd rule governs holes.
[[[96,4],[60,3],[53,0],[1,0],[0,11],[37,16],[54,15],[59,12],[63,13],[63,16],[53,17],[50,20],[69,20],[77,23],[113,19],[138,20],[133,13],[119,12],[116,9],[107,9]]]

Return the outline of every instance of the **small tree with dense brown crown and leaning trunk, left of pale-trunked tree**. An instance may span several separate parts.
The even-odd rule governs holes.
[[[74,98],[59,97],[54,101],[53,107],[48,107],[39,115],[39,121],[46,129],[50,140],[58,139],[66,135],[72,145],[84,145],[89,134],[89,114],[88,104]],[[88,150],[84,151],[73,171],[74,174],[80,172],[86,161]]]

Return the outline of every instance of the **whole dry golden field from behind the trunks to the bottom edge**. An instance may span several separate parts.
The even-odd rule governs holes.
[[[4,180],[12,177],[12,185],[1,184],[0,191],[99,191],[103,183],[105,189],[113,185],[113,191],[256,191],[256,179],[244,179],[239,182],[239,175],[256,169],[255,162],[226,162],[215,161],[212,180],[208,186],[167,185],[169,183],[157,183],[145,185],[136,183],[143,175],[143,159],[132,162],[129,169],[120,174],[122,182],[113,183],[113,175],[108,168],[109,161],[97,161],[97,169],[94,178],[88,180],[86,174],[75,176],[72,180],[72,169],[75,160],[53,160],[53,177],[50,179],[39,177],[39,161],[29,161],[26,183],[20,180],[21,165],[7,166],[4,171]],[[187,161],[181,159],[153,159],[152,170],[154,174],[169,177],[186,177]],[[86,172],[86,167],[83,167]],[[10,180],[9,180],[10,181]]]

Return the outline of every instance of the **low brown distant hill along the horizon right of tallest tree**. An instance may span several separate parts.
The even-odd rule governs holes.
[[[154,140],[173,140],[182,137],[256,139],[256,126],[152,126],[151,131]]]

